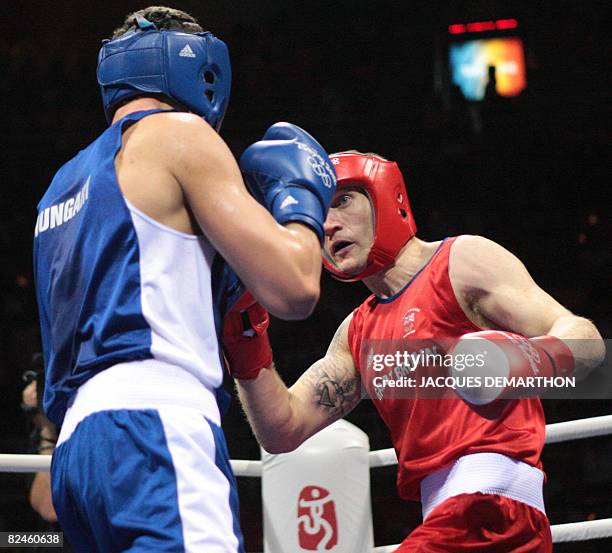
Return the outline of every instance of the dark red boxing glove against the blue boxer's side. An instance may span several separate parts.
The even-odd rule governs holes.
[[[252,380],[272,366],[268,312],[247,290],[223,320],[223,346],[234,378]]]

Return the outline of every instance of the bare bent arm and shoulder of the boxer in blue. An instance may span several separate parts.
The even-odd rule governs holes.
[[[200,117],[161,113],[135,127],[138,134],[127,145],[124,138],[118,156],[126,197],[184,232],[197,232],[184,228],[192,215],[268,311],[284,319],[307,317],[319,296],[321,249],[315,233],[301,224],[276,223],[248,193],[225,142]]]

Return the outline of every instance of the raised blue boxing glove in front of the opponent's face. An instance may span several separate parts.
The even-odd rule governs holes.
[[[251,194],[281,225],[304,223],[323,241],[336,172],[310,134],[291,123],[272,125],[244,151],[240,170]]]

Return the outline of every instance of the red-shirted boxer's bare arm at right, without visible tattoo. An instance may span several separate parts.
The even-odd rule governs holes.
[[[605,346],[595,325],[542,290],[499,244],[480,236],[458,238],[451,249],[450,277],[459,303],[479,326],[561,338],[572,350],[578,377],[602,362]]]

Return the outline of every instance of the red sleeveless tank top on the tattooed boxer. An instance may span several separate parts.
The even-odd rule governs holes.
[[[442,353],[445,341],[441,337],[456,339],[482,330],[466,317],[451,286],[448,267],[454,241],[444,240],[395,296],[370,296],[353,312],[348,331],[362,384],[390,430],[398,457],[398,492],[404,499],[419,500],[423,477],[470,453],[501,453],[541,469],[545,420],[538,399],[476,407],[450,389],[444,398],[406,399],[397,395],[381,398],[373,388],[373,377],[384,375],[387,369],[373,371],[372,340],[393,340],[394,345],[402,344],[414,352]],[[368,355],[369,364],[365,361]]]

